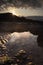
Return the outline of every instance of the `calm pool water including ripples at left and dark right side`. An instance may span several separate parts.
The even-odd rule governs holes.
[[[32,61],[36,65],[43,65],[43,48],[37,44],[38,35],[30,32],[0,33],[0,38],[5,40],[3,44],[0,39],[0,56],[7,54],[14,57],[19,50],[25,50],[32,56]]]

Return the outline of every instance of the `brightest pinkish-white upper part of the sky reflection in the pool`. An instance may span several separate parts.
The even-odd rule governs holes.
[[[17,39],[21,39],[22,41],[24,39],[24,41],[25,41],[25,39],[33,37],[33,36],[34,35],[31,34],[30,32],[21,32],[21,33],[14,32],[10,36],[10,42],[14,42]],[[34,36],[34,37],[37,37],[37,36]]]

